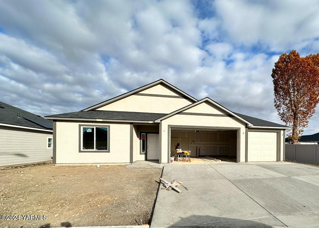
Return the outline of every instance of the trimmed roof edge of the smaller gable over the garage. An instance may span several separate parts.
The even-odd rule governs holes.
[[[199,100],[199,101],[197,101],[197,102],[195,102],[195,103],[193,103],[193,104],[190,104],[190,105],[185,106],[185,107],[183,107],[183,108],[181,108],[181,109],[178,109],[178,110],[176,110],[176,111],[174,111],[174,112],[172,112],[172,113],[169,113],[169,114],[167,114],[167,115],[165,115],[165,116],[162,116],[162,117],[156,119],[155,122],[160,122],[161,120],[167,119],[167,118],[170,117],[170,116],[173,116],[173,115],[175,115],[175,114],[178,114],[178,113],[180,113],[180,112],[183,112],[183,111],[185,111],[185,110],[187,110],[187,109],[189,109],[189,108],[191,108],[191,107],[194,107],[194,106],[196,106],[196,105],[199,105],[200,103],[203,103],[203,102],[205,102],[205,101],[207,101],[207,102],[209,102],[209,103],[211,103],[211,104],[213,104],[213,105],[219,107],[220,109],[224,110],[226,113],[231,114],[231,115],[234,116],[235,118],[237,118],[237,119],[241,120],[242,122],[248,124],[248,126],[253,126],[253,124],[252,124],[251,122],[249,122],[249,121],[247,121],[247,120],[241,118],[241,117],[238,116],[237,114],[235,114],[235,113],[233,113],[232,111],[228,110],[227,108],[221,106],[221,105],[218,104],[217,102],[211,100],[209,97],[205,97],[204,99]]]

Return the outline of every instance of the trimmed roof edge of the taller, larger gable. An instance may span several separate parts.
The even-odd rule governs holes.
[[[194,102],[197,101],[197,99],[195,99],[194,97],[190,96],[189,94],[183,92],[182,90],[178,89],[177,87],[175,87],[175,86],[169,84],[167,81],[165,81],[165,80],[163,80],[163,79],[159,79],[159,80],[154,81],[154,82],[152,82],[152,83],[150,83],[150,84],[147,84],[147,85],[145,85],[145,86],[139,87],[139,88],[134,89],[134,90],[132,90],[132,91],[129,91],[129,92],[127,92],[127,93],[123,93],[122,95],[116,96],[116,97],[111,98],[111,99],[106,100],[106,101],[103,101],[103,102],[101,102],[101,103],[99,103],[99,104],[96,104],[96,105],[93,105],[93,106],[91,106],[91,107],[85,108],[85,109],[83,109],[83,110],[81,110],[81,111],[89,111],[89,110],[92,110],[92,109],[96,109],[96,108],[99,108],[99,107],[108,105],[108,104],[110,104],[110,103],[113,103],[113,102],[115,102],[115,101],[121,100],[121,99],[123,99],[123,98],[125,98],[125,97],[128,97],[128,96],[130,96],[130,95],[133,95],[134,93],[141,92],[141,91],[143,91],[143,90],[145,90],[145,89],[151,88],[151,87],[156,86],[156,85],[159,85],[159,84],[161,84],[161,83],[162,83],[162,84],[165,84],[166,86],[168,86],[168,87],[170,87],[170,88],[172,88],[173,90],[177,91],[178,93],[183,94],[183,95],[184,95],[186,98],[188,98],[189,100],[192,100],[192,101],[194,101]]]

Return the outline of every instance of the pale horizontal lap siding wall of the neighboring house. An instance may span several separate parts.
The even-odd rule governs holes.
[[[52,161],[52,132],[0,126],[0,166]]]

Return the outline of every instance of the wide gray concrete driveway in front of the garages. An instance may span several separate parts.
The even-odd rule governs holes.
[[[208,164],[209,163],[209,164]],[[167,165],[151,228],[319,227],[319,168],[289,162]],[[162,186],[161,186],[162,187]]]

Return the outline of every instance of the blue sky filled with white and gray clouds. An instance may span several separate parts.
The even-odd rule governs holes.
[[[0,1],[0,100],[78,111],[160,78],[282,123],[271,70],[319,52],[319,1]],[[319,108],[305,134],[319,132]]]

